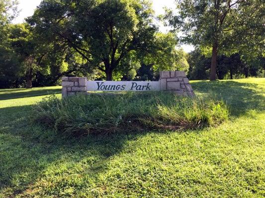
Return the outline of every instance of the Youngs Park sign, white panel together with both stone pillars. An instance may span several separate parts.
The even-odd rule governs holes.
[[[89,92],[170,91],[181,96],[194,96],[184,71],[162,71],[159,81],[88,81],[85,77],[63,77],[63,97]]]

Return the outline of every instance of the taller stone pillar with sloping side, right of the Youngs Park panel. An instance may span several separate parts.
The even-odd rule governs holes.
[[[160,83],[161,91],[174,92],[180,96],[195,96],[184,71],[161,71]]]

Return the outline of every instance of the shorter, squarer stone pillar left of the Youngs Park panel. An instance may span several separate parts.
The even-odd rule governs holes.
[[[62,96],[74,96],[77,94],[87,94],[86,77],[63,77],[62,78]]]

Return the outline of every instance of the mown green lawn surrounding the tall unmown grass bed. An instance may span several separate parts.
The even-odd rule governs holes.
[[[229,121],[64,139],[28,120],[60,87],[0,90],[0,198],[264,198],[265,78],[191,83],[226,101]]]

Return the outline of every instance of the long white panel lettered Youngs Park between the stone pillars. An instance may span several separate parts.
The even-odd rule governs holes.
[[[87,91],[161,91],[161,86],[154,81],[88,81]]]

